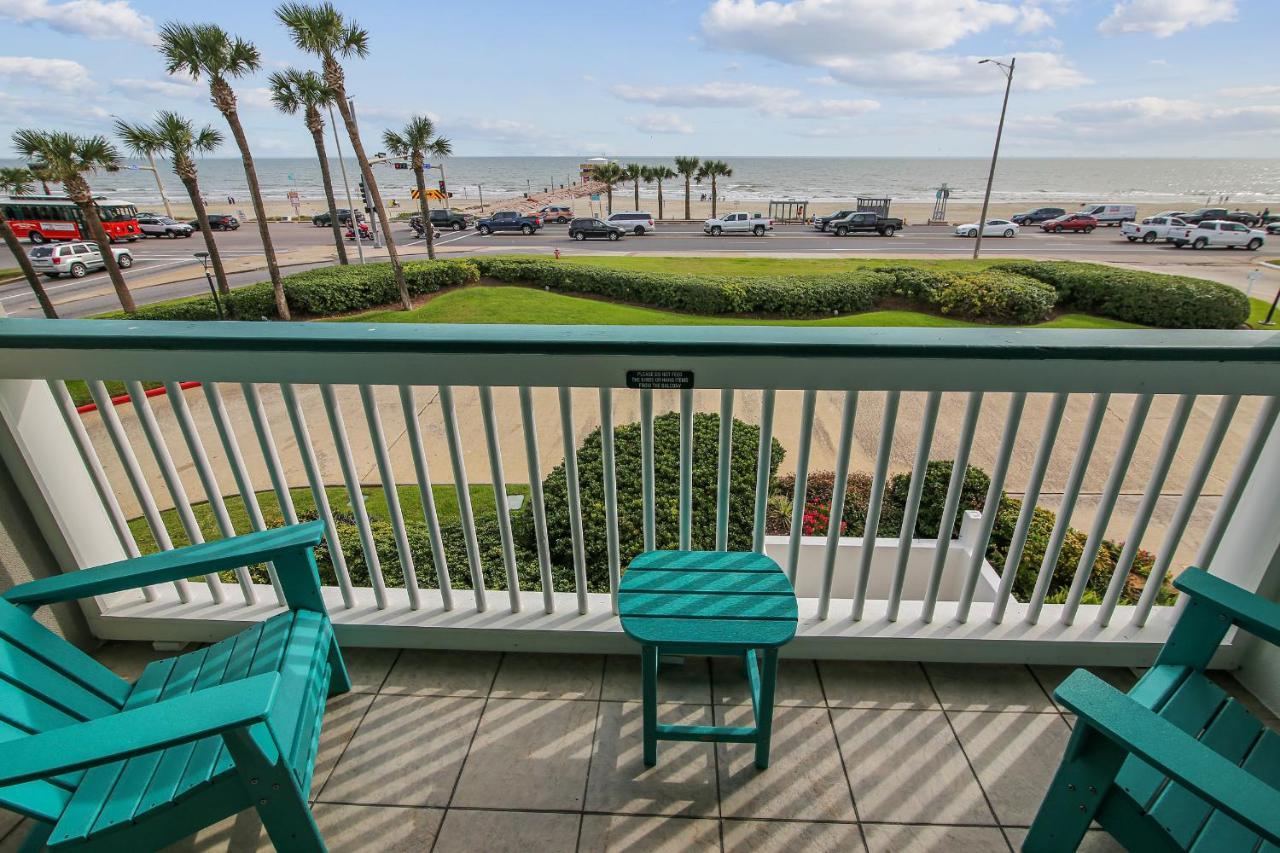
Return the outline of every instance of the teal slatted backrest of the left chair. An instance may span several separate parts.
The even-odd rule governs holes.
[[[0,743],[120,710],[129,684],[0,599]],[[0,806],[52,821],[82,774],[0,788]]]

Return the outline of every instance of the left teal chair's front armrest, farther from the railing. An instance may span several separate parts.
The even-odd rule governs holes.
[[[6,740],[0,751],[0,786],[47,779],[264,722],[279,683],[276,672],[266,672],[20,740]]]

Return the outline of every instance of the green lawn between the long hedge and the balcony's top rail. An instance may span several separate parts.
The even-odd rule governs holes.
[[[616,259],[630,260],[630,259]],[[646,259],[637,259],[646,260]],[[659,259],[660,260],[660,259]],[[765,259],[768,260],[768,259]],[[547,325],[796,325],[796,327],[948,327],[979,328],[951,318],[918,311],[868,311],[819,320],[763,320],[705,316],[618,305],[579,296],[549,293],[531,287],[467,287],[442,293],[412,311],[372,311],[339,321],[357,323],[516,323]],[[1037,327],[1042,329],[1138,329],[1143,327],[1083,314],[1065,314]]]

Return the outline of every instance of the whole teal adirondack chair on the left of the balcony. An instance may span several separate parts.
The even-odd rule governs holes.
[[[307,808],[326,695],[351,689],[325,613],[319,521],[14,587],[0,597],[0,806],[23,849],[154,850],[253,807],[280,850],[324,850]],[[37,607],[271,561],[288,612],[133,684]]]

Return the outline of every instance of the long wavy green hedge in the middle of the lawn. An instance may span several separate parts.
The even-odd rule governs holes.
[[[692,314],[818,316],[870,311],[906,298],[956,316],[998,323],[1048,319],[1053,289],[1018,273],[956,274],[919,266],[852,268],[828,275],[672,275],[543,259],[476,257],[499,282],[586,293]]]

